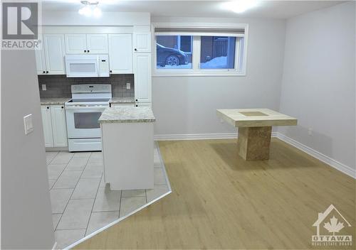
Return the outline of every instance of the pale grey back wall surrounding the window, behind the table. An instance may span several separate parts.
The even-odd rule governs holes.
[[[216,109],[279,108],[285,21],[258,18],[153,18],[154,22],[248,23],[246,77],[152,77],[155,135],[236,133]]]

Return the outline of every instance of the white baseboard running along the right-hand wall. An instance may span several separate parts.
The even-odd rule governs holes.
[[[317,158],[320,161],[323,161],[323,163],[326,163],[333,168],[341,171],[342,173],[345,173],[346,175],[351,176],[352,178],[356,179],[356,171],[352,168],[350,168],[348,165],[342,164],[333,158],[330,158],[329,156],[325,156],[323,153],[320,153],[313,148],[309,148],[308,146],[305,146],[303,143],[300,143],[299,141],[295,141],[292,138],[289,138],[288,136],[285,136],[281,133],[276,132],[276,137],[280,139],[281,141],[284,141],[295,148],[300,149],[301,151],[308,153],[308,155],[313,156]]]

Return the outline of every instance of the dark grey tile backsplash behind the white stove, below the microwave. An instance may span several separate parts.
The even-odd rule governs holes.
[[[131,89],[126,89],[126,82],[130,82]],[[86,83],[111,84],[112,97],[135,97],[133,74],[80,78],[68,78],[66,75],[38,75],[38,87],[41,98],[72,97],[70,86]],[[47,90],[43,91],[42,85],[46,85]]]

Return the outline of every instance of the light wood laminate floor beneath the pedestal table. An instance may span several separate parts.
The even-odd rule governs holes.
[[[283,141],[272,139],[268,161],[244,161],[234,139],[159,149],[172,194],[76,249],[328,249],[311,237],[330,204],[355,239],[355,180]]]

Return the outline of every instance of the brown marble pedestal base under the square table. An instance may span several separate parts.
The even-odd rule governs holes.
[[[239,155],[246,161],[268,160],[271,133],[271,126],[239,127]]]

